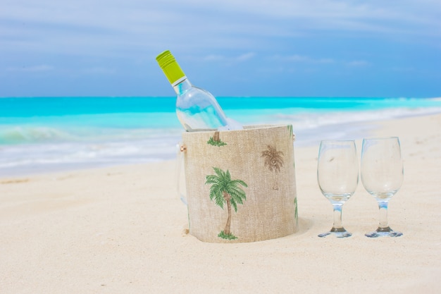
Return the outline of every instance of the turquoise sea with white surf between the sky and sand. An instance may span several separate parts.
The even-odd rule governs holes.
[[[291,123],[295,146],[359,139],[368,122],[441,113],[440,99],[218,97],[244,125]],[[367,124],[366,124],[367,123]],[[175,97],[0,98],[0,176],[175,158]]]

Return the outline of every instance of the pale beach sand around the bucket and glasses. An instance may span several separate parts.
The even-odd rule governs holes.
[[[364,236],[378,206],[360,182],[343,208],[353,236],[318,238],[333,222],[318,146],[295,142],[299,231],[256,243],[188,235],[174,161],[1,178],[0,293],[441,293],[441,115],[377,126],[402,143],[402,237]]]

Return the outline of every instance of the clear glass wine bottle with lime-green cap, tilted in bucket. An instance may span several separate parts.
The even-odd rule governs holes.
[[[163,51],[156,61],[177,94],[176,115],[185,130],[242,129],[242,125],[225,116],[210,92],[191,84],[170,51]]]

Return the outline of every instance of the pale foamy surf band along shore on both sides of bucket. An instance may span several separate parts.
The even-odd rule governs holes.
[[[306,146],[324,139],[361,138],[374,127],[366,122],[435,113],[441,113],[441,108],[263,109],[228,114],[244,125],[290,123],[296,134],[295,146]],[[97,125],[0,125],[0,176],[174,159],[182,131]]]

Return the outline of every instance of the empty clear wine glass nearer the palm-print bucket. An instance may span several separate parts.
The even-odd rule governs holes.
[[[323,195],[333,204],[334,223],[318,237],[352,235],[342,226],[342,207],[359,183],[359,161],[354,140],[323,140],[318,151],[317,180]]]

